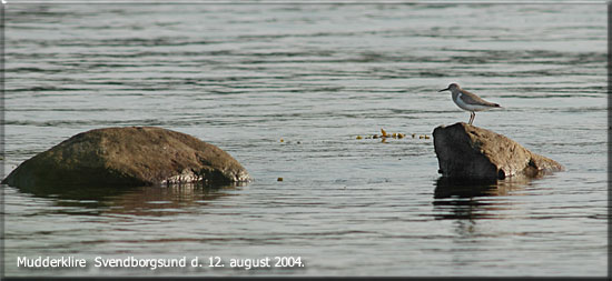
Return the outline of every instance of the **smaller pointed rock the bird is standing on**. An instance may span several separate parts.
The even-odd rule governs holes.
[[[502,134],[464,122],[437,127],[433,136],[438,172],[443,177],[496,180],[564,169]]]

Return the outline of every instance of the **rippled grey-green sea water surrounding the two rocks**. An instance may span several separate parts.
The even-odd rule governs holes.
[[[6,274],[605,275],[605,10],[10,3],[7,174],[78,132],[157,126],[220,147],[255,181],[3,187]],[[471,192],[438,183],[433,139],[418,136],[467,121],[437,92],[451,82],[504,107],[475,126],[567,171]],[[381,128],[408,138],[356,139]],[[89,267],[24,269],[18,257]],[[226,267],[109,269],[96,257]],[[304,267],[229,267],[265,257]]]

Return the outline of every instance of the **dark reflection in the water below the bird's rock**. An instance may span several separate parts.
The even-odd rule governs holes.
[[[434,190],[434,215],[438,220],[497,219],[509,210],[509,200],[495,198],[517,195],[529,184],[527,178],[499,181],[458,181],[440,178]]]

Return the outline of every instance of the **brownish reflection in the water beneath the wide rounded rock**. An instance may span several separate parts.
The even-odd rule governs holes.
[[[189,212],[189,207],[204,205],[209,201],[233,195],[229,190],[245,183],[229,185],[204,185],[201,183],[171,184],[168,187],[89,188],[57,190],[29,190],[36,197],[55,199],[55,210],[68,214],[121,213],[135,215],[168,215]]]

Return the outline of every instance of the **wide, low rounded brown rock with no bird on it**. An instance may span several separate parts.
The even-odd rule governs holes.
[[[136,187],[246,182],[231,155],[191,136],[155,127],[82,132],[21,163],[2,183],[36,187]]]

